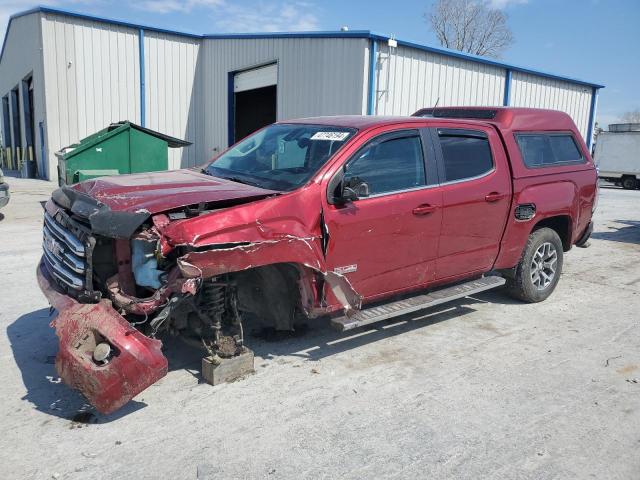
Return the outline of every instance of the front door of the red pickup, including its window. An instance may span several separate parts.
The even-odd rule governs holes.
[[[328,268],[365,299],[435,276],[441,194],[432,188],[435,159],[425,162],[424,139],[419,130],[402,130],[369,141],[347,161],[344,180],[365,182],[368,196],[325,212]]]

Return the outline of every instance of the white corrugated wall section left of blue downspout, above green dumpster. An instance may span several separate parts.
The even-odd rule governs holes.
[[[42,41],[53,165],[60,148],[112,122],[139,121],[136,29],[47,13]]]

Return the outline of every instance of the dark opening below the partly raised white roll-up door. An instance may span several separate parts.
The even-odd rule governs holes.
[[[276,85],[236,92],[234,97],[234,142],[276,121]]]

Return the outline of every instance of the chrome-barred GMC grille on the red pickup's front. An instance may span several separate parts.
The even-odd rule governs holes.
[[[83,290],[87,271],[84,244],[45,212],[42,248],[51,274],[69,288]]]

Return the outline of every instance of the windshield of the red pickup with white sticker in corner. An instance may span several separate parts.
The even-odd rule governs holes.
[[[204,173],[269,190],[294,190],[355,132],[328,125],[271,125],[220,155]]]

